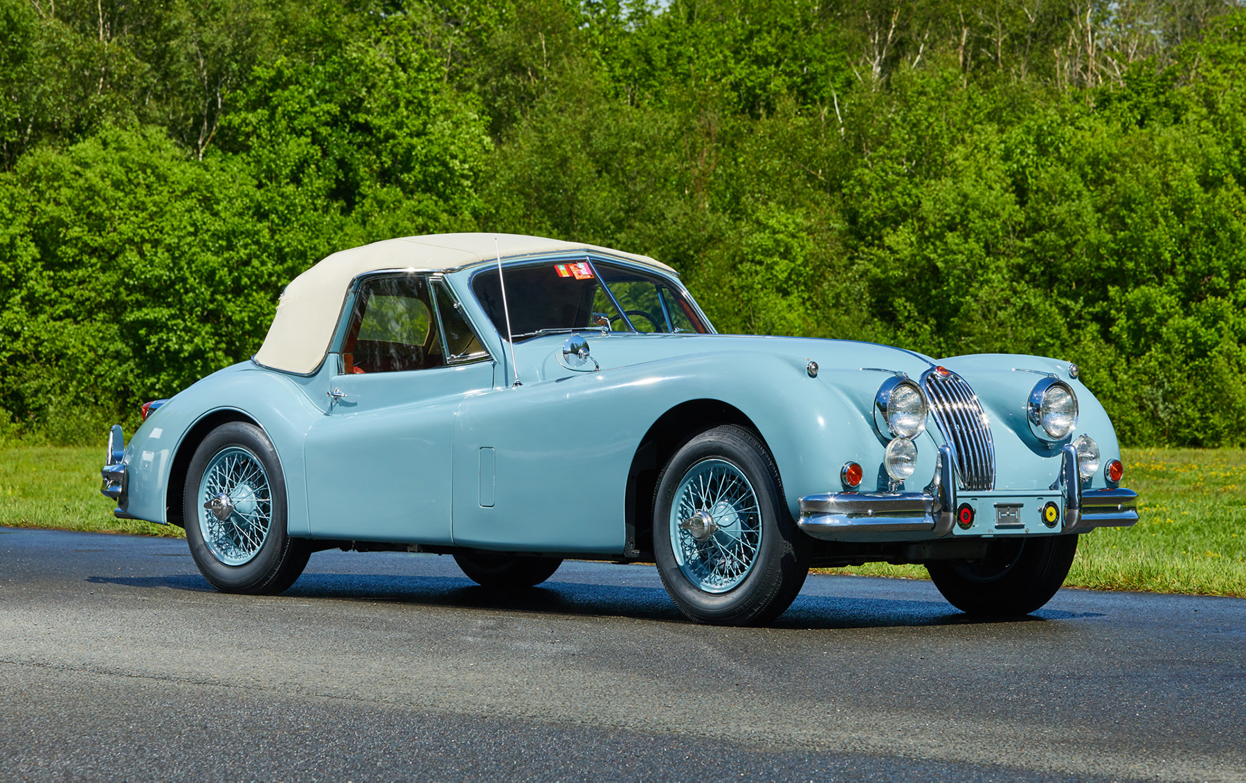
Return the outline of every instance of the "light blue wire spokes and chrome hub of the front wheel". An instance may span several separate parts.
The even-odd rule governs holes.
[[[670,544],[684,576],[706,593],[726,593],[749,575],[761,546],[758,495],[725,459],[689,468],[670,507]]]

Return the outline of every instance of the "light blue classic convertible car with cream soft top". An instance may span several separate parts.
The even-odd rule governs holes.
[[[688,617],[749,625],[811,566],[888,561],[1017,615],[1078,535],[1138,519],[1074,365],[719,335],[669,266],[535,237],[330,255],[250,361],[143,415],[102,492],[184,527],[231,593],[328,548],[451,554],[493,588],[653,561]]]

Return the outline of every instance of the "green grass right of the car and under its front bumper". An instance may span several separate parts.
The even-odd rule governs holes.
[[[1123,461],[1141,519],[1083,535],[1064,584],[1246,598],[1246,451],[1126,448]],[[920,565],[820,570],[927,579]]]

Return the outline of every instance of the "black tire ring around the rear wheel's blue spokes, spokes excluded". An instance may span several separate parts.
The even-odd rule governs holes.
[[[242,565],[228,565],[217,559],[203,540],[202,520],[203,502],[199,499],[199,483],[212,458],[229,447],[240,447],[253,453],[268,474],[272,494],[272,519],[268,535],[259,553]],[[229,422],[208,433],[191,458],[186,476],[186,490],[182,498],[182,514],[187,520],[186,539],[191,545],[191,555],[203,576],[218,590],[226,593],[252,593],[263,590],[280,569],[289,538],[285,532],[285,478],[282,473],[277,449],[264,432],[245,422]]]

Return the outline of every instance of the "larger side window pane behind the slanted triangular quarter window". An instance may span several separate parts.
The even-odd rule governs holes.
[[[345,372],[401,372],[445,366],[424,275],[365,280],[341,346]]]

